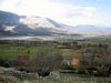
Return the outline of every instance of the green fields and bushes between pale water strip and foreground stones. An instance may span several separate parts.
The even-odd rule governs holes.
[[[31,60],[18,60],[18,55],[30,55]],[[73,59],[78,59],[79,63],[73,65]],[[62,60],[67,62],[61,63]],[[42,76],[58,69],[77,71],[72,73],[73,75],[78,73],[110,76],[111,40],[1,40],[0,66],[14,66],[21,71],[39,72]]]

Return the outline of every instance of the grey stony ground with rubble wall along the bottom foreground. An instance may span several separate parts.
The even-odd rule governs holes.
[[[111,77],[95,77],[53,71],[42,77],[38,73],[17,71],[13,68],[0,68],[0,83],[111,83]]]

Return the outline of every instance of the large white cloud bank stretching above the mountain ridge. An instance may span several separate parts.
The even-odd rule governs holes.
[[[53,2],[51,0],[3,0],[0,9],[21,15],[39,15],[70,24],[105,24],[108,18],[98,14],[94,7],[81,7]]]

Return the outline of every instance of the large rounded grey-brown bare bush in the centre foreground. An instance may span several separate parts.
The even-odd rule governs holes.
[[[33,58],[33,66],[39,75],[46,76],[51,71],[57,70],[62,62],[62,55],[60,52],[53,52],[53,50],[41,49],[39,53]]]

